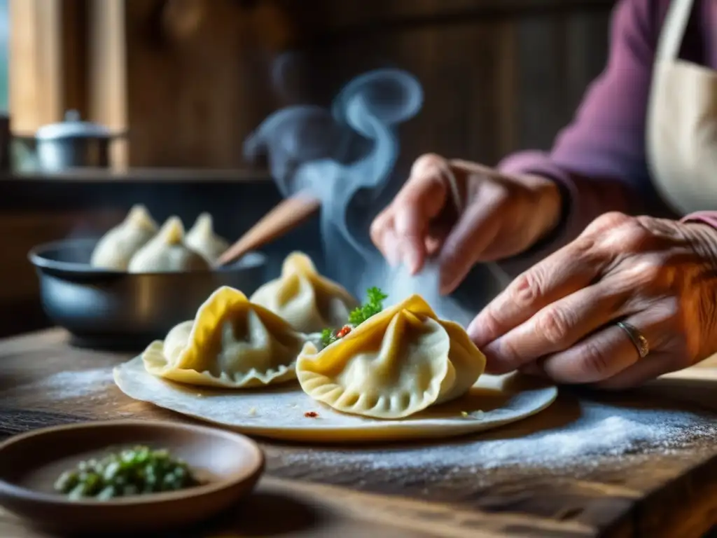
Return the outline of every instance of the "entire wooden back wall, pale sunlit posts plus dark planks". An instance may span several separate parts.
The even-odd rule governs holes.
[[[326,104],[361,72],[402,67],[427,98],[404,128],[405,159],[437,151],[492,164],[549,147],[569,121],[604,65],[612,4],[12,0],[11,114],[24,133],[67,108],[129,128],[120,167],[230,169],[272,111]],[[286,52],[300,61],[280,83]]]

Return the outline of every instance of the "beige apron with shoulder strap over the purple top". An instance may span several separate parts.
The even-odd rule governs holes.
[[[693,0],[673,0],[657,42],[647,108],[647,164],[665,202],[717,209],[717,72],[678,58]]]

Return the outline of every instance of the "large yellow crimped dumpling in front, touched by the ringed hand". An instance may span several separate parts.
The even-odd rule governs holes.
[[[305,344],[296,373],[304,392],[334,409],[403,418],[467,392],[485,357],[452,321],[414,295],[318,351]]]

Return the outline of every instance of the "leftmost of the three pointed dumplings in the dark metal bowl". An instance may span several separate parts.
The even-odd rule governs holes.
[[[92,252],[90,265],[110,270],[127,270],[132,256],[156,233],[156,222],[146,207],[138,204],[130,209],[123,222],[103,235]]]

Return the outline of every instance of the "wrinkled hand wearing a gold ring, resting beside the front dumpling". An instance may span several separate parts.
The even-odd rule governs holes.
[[[647,338],[640,359],[615,325]],[[468,329],[493,373],[632,387],[717,352],[717,231],[604,214],[520,275]]]

